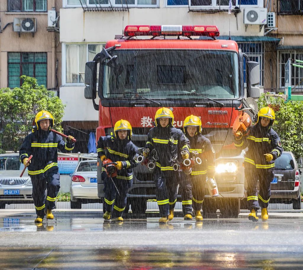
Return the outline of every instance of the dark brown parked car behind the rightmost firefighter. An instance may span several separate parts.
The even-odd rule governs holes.
[[[271,197],[269,203],[292,203],[293,209],[301,209],[301,174],[294,155],[284,151],[275,160],[275,177],[271,182]],[[241,209],[247,209],[247,182],[245,180],[245,198],[241,200]]]

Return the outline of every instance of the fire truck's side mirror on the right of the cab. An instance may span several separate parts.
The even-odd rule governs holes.
[[[260,65],[258,62],[246,62],[247,75],[247,97],[254,99],[260,97],[260,88],[257,86],[260,83]]]

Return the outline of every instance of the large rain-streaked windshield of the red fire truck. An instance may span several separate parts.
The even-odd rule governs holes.
[[[105,99],[125,99],[130,92],[156,100],[239,97],[236,52],[117,49],[112,54],[118,57],[114,65],[104,66]],[[200,95],[185,95],[188,92]]]

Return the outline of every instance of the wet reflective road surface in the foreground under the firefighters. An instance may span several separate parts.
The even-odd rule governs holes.
[[[100,211],[54,213],[37,226],[33,212],[0,211],[0,269],[303,269],[303,213],[164,226],[153,215],[116,223]]]

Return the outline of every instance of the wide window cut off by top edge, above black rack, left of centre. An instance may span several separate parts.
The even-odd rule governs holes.
[[[179,0],[177,0],[179,1]],[[122,6],[128,5],[130,7],[142,6],[142,7],[157,7],[158,0],[66,0],[67,6],[80,5],[84,7],[108,7],[108,6]]]

